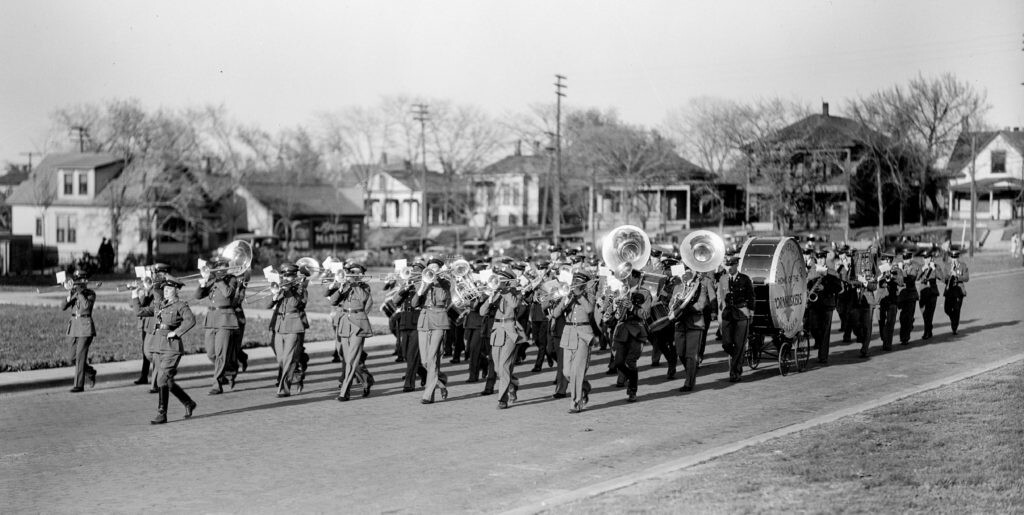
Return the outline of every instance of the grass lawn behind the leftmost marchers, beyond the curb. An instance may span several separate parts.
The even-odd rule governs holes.
[[[91,362],[140,359],[142,345],[138,318],[127,309],[93,310],[97,336],[89,348]],[[202,324],[202,316],[198,316]],[[65,335],[69,316],[56,307],[4,305],[0,307],[0,372],[48,369],[74,364],[73,347]],[[307,341],[333,339],[331,323],[310,320]],[[266,319],[249,319],[245,347],[270,341]],[[186,353],[204,352],[203,331],[197,326],[183,337]]]

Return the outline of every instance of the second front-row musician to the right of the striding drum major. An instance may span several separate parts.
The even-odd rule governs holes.
[[[270,285],[270,301],[268,309],[274,312],[273,347],[278,356],[278,367],[282,370],[281,384],[278,396],[287,397],[292,394],[292,385],[297,386],[297,393],[302,393],[305,374],[302,369],[303,342],[309,321],[306,319],[305,277],[299,277],[299,267],[285,263],[278,267],[281,273],[281,284]]]

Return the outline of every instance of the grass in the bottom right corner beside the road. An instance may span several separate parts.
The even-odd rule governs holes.
[[[1024,362],[558,513],[1022,513]]]

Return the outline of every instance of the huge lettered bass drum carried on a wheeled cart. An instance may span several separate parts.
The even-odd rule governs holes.
[[[794,239],[748,240],[739,253],[739,271],[754,283],[752,330],[793,338],[804,329],[807,265]]]

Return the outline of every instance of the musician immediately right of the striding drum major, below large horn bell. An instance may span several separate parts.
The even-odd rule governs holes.
[[[234,387],[236,373],[231,369],[236,357],[230,355],[230,342],[232,333],[239,329],[239,317],[234,313],[239,280],[227,273],[227,265],[226,259],[214,259],[200,268],[203,276],[195,295],[197,300],[210,299],[206,323],[203,325],[203,345],[206,346],[207,356],[213,361],[213,388],[210,395],[223,393],[224,384]]]

